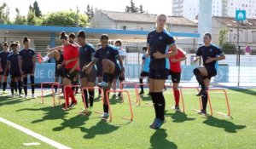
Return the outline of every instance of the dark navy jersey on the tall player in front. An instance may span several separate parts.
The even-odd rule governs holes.
[[[163,32],[156,32],[156,30],[149,32],[147,43],[150,49],[150,69],[169,69],[169,59],[154,59],[153,54],[159,51],[161,54],[168,53],[170,47],[175,44],[172,35],[164,30]]]

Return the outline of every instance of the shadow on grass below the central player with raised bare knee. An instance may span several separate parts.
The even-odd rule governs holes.
[[[119,126],[113,126],[113,125],[110,125],[105,120],[101,120],[98,123],[96,123],[95,126],[92,126],[90,129],[86,129],[84,127],[80,127],[80,129],[82,132],[87,133],[86,135],[84,135],[85,139],[92,139],[96,137],[96,135],[109,134],[119,129]]]

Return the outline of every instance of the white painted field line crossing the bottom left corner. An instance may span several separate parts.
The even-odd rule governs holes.
[[[45,143],[49,144],[50,146],[54,146],[54,147],[60,148],[60,149],[71,149],[70,147],[64,146],[61,143],[56,142],[55,140],[50,140],[49,138],[47,138],[43,135],[39,135],[38,133],[35,133],[30,129],[26,129],[16,123],[12,123],[12,122],[4,119],[3,117],[0,117],[0,122],[5,123],[15,129],[18,129],[27,135],[31,135],[32,137],[37,138],[38,140],[44,141]]]

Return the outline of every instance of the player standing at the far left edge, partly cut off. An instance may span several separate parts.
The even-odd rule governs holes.
[[[3,51],[0,52],[0,87],[1,87],[1,84],[3,84],[3,95],[6,94],[5,89],[7,86],[7,77],[9,75],[8,72],[5,72],[7,57],[9,54],[10,54],[9,53],[9,44],[7,42],[4,42],[3,43]],[[3,83],[2,83],[2,79],[3,79]]]

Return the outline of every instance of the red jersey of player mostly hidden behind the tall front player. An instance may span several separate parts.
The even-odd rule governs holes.
[[[181,66],[180,66],[180,61],[177,62],[171,62],[172,59],[180,59],[183,58],[185,54],[183,53],[182,50],[177,49],[177,54],[175,56],[169,57],[169,62],[170,62],[170,70],[172,72],[181,72]]]

